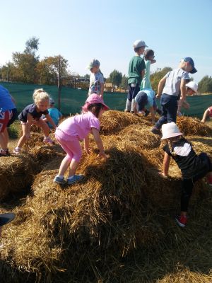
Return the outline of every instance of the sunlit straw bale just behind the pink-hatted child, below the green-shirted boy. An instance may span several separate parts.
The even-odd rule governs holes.
[[[109,110],[101,117],[100,133],[117,134],[124,127],[132,124],[151,125],[148,118],[132,115],[129,112]]]

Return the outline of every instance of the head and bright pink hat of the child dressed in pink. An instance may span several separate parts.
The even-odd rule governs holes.
[[[104,103],[104,100],[98,96],[98,94],[93,93],[88,96],[86,104],[83,106],[83,112],[92,112],[95,117],[100,117],[100,113],[108,110],[109,107]]]

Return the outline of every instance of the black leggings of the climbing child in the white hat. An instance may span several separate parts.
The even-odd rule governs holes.
[[[181,195],[181,211],[187,212],[189,207],[189,200],[192,195],[192,190],[194,187],[194,183],[203,178],[208,172],[212,171],[212,164],[210,158],[204,152],[199,154],[199,158],[205,164],[202,171],[199,171],[198,174],[194,175],[191,179],[183,179],[182,180],[182,195]]]

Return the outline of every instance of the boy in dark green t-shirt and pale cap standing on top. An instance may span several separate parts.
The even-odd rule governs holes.
[[[141,54],[143,54],[145,47],[148,47],[143,40],[136,40],[134,42],[134,51],[136,55],[132,57],[129,62],[128,69],[128,84],[129,84],[129,92],[126,99],[126,112],[134,112],[134,100],[140,91],[141,81],[143,79],[146,65],[141,58]]]

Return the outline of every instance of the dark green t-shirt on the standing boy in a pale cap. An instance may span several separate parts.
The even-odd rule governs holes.
[[[141,71],[146,69],[145,62],[140,56],[134,56],[129,62],[128,83],[138,83],[142,81]]]

